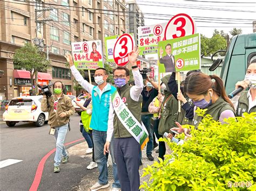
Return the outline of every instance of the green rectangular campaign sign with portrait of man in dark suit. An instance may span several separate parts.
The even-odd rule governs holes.
[[[201,69],[200,35],[160,41],[158,61],[160,73]]]

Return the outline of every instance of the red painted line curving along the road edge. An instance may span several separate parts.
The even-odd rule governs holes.
[[[81,138],[81,139],[78,139],[78,140],[74,140],[73,142],[69,142],[69,143],[66,143],[64,144],[65,146],[67,145],[71,145],[73,143],[77,143],[81,140],[84,140],[84,138]],[[44,164],[46,162],[46,160],[50,157],[50,155],[52,153],[54,153],[56,151],[56,148],[53,148],[53,150],[51,150],[49,153],[47,153],[42,159],[41,161],[39,162],[38,166],[37,166],[37,170],[36,170],[36,175],[35,175],[35,178],[33,180],[33,183],[29,189],[29,191],[34,191],[34,190],[37,190],[40,182],[41,182],[41,178],[42,178],[42,174],[43,174],[43,170],[44,170]]]

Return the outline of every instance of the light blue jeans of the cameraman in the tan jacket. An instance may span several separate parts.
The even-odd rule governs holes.
[[[64,140],[66,137],[66,133],[68,132],[68,123],[55,128],[55,130],[56,131],[54,137],[56,140],[56,152],[54,157],[54,166],[59,166],[60,162],[62,161],[62,156],[68,156],[68,152],[66,152],[66,149],[64,147]]]

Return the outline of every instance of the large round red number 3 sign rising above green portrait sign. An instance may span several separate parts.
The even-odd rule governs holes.
[[[194,20],[185,13],[172,17],[165,27],[164,39],[189,36],[196,32]]]

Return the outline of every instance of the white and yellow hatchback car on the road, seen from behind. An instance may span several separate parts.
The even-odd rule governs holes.
[[[12,98],[5,107],[3,121],[8,126],[18,122],[35,122],[36,126],[43,126],[49,114],[41,110],[42,98],[42,95]]]

